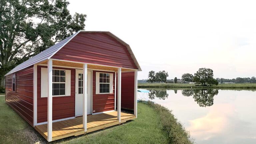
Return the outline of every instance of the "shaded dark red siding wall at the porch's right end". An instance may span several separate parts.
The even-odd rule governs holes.
[[[121,108],[134,109],[134,72],[122,72],[121,74]]]

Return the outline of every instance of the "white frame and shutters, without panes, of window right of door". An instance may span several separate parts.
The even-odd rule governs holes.
[[[100,73],[109,74],[109,92],[100,93]],[[108,83],[102,83],[108,84]],[[113,73],[96,72],[96,94],[112,94],[113,93]]]

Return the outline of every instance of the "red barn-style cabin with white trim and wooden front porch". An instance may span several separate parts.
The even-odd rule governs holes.
[[[138,71],[121,39],[79,31],[8,72],[6,103],[48,141],[77,136],[137,117]]]

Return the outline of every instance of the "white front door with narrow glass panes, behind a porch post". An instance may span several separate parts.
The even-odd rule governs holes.
[[[87,71],[87,114],[92,111],[92,72]],[[75,114],[83,115],[83,71],[76,70],[76,96],[75,96]]]

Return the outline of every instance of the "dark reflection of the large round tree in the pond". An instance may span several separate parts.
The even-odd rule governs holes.
[[[193,98],[200,107],[212,106],[213,97],[218,93],[215,89],[195,89]]]

